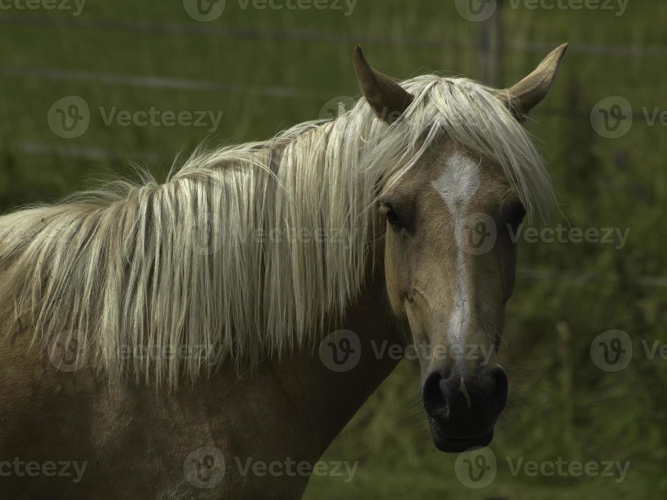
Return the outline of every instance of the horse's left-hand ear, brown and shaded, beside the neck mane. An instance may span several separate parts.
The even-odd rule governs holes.
[[[354,69],[366,101],[387,123],[394,123],[414,101],[414,95],[368,64],[359,45],[354,49]]]

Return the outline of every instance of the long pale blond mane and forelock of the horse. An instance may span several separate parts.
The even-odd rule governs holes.
[[[360,99],[195,153],[162,184],[146,175],[0,217],[3,329],[39,342],[77,331],[109,373],[171,384],[314,345],[362,287],[378,190],[443,133],[497,161],[529,213],[546,211],[548,173],[497,91],[437,75],[402,85],[416,99],[391,126]],[[152,355],[121,355],[137,347]]]

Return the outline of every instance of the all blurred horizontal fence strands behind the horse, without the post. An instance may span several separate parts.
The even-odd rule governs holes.
[[[74,19],[65,17],[24,17],[9,16],[0,18],[0,25],[59,27],[67,29],[95,29],[97,31],[116,31],[126,33],[147,33],[167,35],[206,35],[213,37],[231,37],[235,39],[267,40],[267,41],[313,41],[323,43],[374,43],[378,45],[402,47],[442,47],[456,49],[478,49],[478,44],[447,41],[442,39],[418,39],[400,37],[376,37],[364,34],[324,33],[310,30],[279,30],[225,27],[205,25],[202,23],[155,23],[145,21],[120,21],[116,19]],[[557,44],[542,42],[503,43],[503,48],[510,51],[528,53],[544,53]],[[585,55],[612,55],[617,57],[667,57],[667,47],[627,47],[620,45],[586,45],[578,44],[569,47],[570,52]],[[65,71],[39,67],[0,66],[0,75],[15,77],[37,77],[54,81],[93,81],[115,85],[129,85],[153,89],[178,89],[189,91],[228,91],[230,93],[253,94],[263,97],[330,97],[333,92],[321,89],[297,89],[283,86],[247,87],[219,81],[177,79],[151,75],[126,75],[117,73],[95,73],[91,71]],[[545,108],[540,115],[558,115],[575,119],[589,119],[590,111]],[[644,119],[635,113],[632,119]],[[143,159],[159,161],[164,155],[155,151],[111,151],[97,146],[73,146],[27,141],[17,145],[17,150],[27,154],[57,154],[64,157],[79,157],[92,160],[109,158]],[[619,277],[576,273],[554,269],[520,268],[518,277],[534,280],[555,280],[572,285],[620,285]],[[639,276],[628,279],[630,283],[644,287],[667,287],[667,277]]]

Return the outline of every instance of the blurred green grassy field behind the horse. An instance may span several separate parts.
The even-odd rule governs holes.
[[[208,135],[208,127],[106,126],[98,107],[223,111],[209,139],[237,142],[270,137],[316,118],[333,97],[357,95],[356,43],[396,77],[480,77],[480,23],[463,19],[454,2],[359,0],[350,15],[344,3],[343,11],[240,5],[227,0],[209,23],[191,19],[181,1],[89,0],[78,16],[0,11],[0,210],[60,197],[91,177],[130,175],[126,158],[163,178],[179,152]],[[570,42],[529,126],[544,141],[564,216],[572,227],[631,231],[622,249],[520,244],[501,354],[512,395],[492,443],[495,481],[474,490],[456,479],[456,456],[430,443],[418,373],[404,361],[324,457],[359,460],[354,481],[313,477],[307,499],[665,497],[667,361],[647,359],[642,340],[667,343],[667,288],[643,278],[667,276],[666,134],[648,126],[640,109],[667,105],[667,33],[654,22],[667,19],[667,5],[630,1],[623,15],[616,12],[504,8],[502,83],[518,81],[550,49]],[[90,126],[76,139],[58,137],[47,124],[51,105],[67,95],[91,109]],[[594,104],[610,95],[626,97],[640,115],[620,139],[600,137],[589,120]],[[618,373],[590,358],[590,343],[608,329],[633,339],[632,363]],[[620,483],[514,477],[506,457],[630,461],[630,468]]]

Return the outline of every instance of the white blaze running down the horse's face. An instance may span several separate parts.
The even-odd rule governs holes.
[[[456,241],[456,293],[454,311],[450,318],[448,335],[452,345],[462,345],[466,325],[470,317],[470,283],[464,265],[467,245],[466,214],[467,207],[480,186],[480,165],[478,162],[458,153],[450,156],[444,165],[442,175],[432,185],[447,204],[454,221],[454,239]]]

